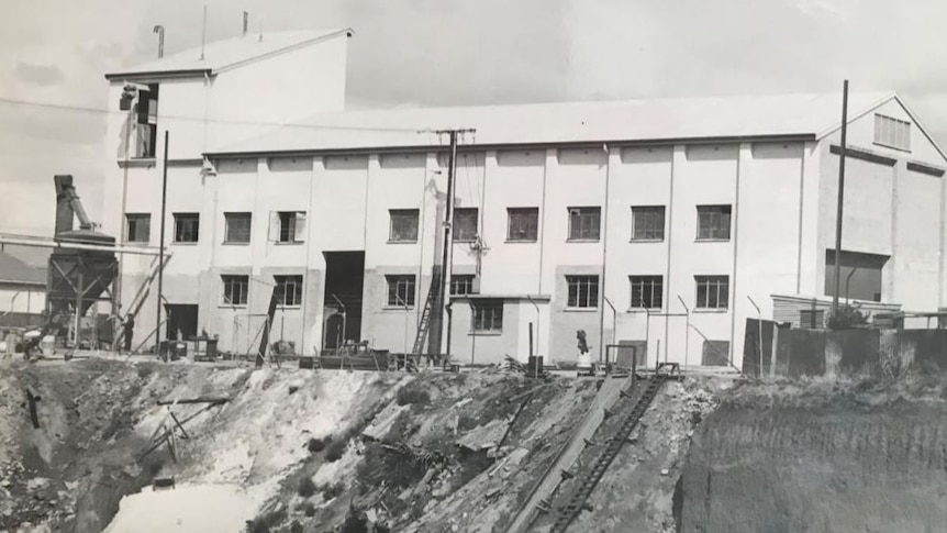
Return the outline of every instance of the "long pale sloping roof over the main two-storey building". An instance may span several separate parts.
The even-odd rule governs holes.
[[[896,98],[894,92],[850,93],[849,121]],[[436,130],[470,127],[480,146],[815,140],[839,127],[840,110],[840,93],[810,93],[348,111],[276,126],[208,155],[423,147],[443,144]]]

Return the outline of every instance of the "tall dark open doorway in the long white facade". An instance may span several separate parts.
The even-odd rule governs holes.
[[[322,349],[336,349],[346,341],[361,341],[361,290],[365,252],[323,252],[325,303]]]

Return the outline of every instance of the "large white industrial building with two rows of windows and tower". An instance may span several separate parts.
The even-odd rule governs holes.
[[[112,141],[135,123],[157,143],[110,151],[103,231],[157,246],[167,170],[163,336],[205,330],[255,352],[278,288],[271,341],[411,352],[445,229],[450,312],[430,351],[459,363],[522,360],[531,343],[571,363],[583,336],[597,357],[624,345],[648,364],[739,366],[747,318],[824,322],[807,302],[834,291],[840,95],[344,111],[348,33],[264,37],[285,46],[266,54],[237,40],[220,54],[244,55],[223,67],[208,54],[203,69],[171,57],[108,76],[116,110],[130,84],[158,95],[147,116],[110,124]],[[293,66],[320,73],[305,109],[245,71]],[[893,93],[851,95],[849,119],[843,296],[935,311],[947,160]],[[447,225],[438,132],[450,129],[473,132],[460,135]],[[124,304],[154,267],[123,258]],[[156,322],[154,295],[142,300],[136,340]]]

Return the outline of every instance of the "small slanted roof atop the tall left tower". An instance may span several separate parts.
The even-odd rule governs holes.
[[[350,29],[249,33],[208,43],[204,46],[203,59],[201,59],[200,47],[189,48],[160,59],[107,74],[105,79],[214,75],[249,62],[349,34],[352,34]]]

